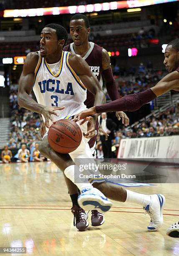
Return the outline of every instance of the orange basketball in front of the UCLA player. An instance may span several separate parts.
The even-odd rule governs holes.
[[[53,123],[48,131],[48,142],[53,150],[68,154],[81,143],[82,133],[79,125],[68,119]]]

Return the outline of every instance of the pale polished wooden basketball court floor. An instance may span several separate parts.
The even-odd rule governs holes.
[[[26,247],[12,255],[179,255],[179,239],[166,229],[179,220],[179,184],[131,187],[166,197],[164,225],[148,232],[149,217],[135,205],[113,201],[98,228],[73,226],[63,173],[51,162],[0,164],[0,247]],[[89,213],[88,222],[91,215]]]

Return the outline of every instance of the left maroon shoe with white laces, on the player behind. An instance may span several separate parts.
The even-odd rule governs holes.
[[[87,221],[88,214],[86,214],[86,212],[81,207],[76,205],[73,205],[71,212],[74,215],[73,225],[76,226],[79,231],[85,231],[89,225]]]

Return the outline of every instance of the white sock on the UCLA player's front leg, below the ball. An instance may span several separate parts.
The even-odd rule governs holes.
[[[65,169],[64,174],[68,179],[70,179],[74,184],[76,184],[80,191],[82,191],[83,189],[93,188],[93,186],[88,182],[87,179],[79,177],[79,175],[82,173],[79,171],[79,168],[76,165],[68,166]]]

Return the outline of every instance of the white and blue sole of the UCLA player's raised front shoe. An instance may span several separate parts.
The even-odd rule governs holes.
[[[103,199],[100,195],[92,193],[80,195],[78,197],[78,205],[85,210],[98,210],[99,212],[107,212],[110,210],[112,203],[109,200]]]

